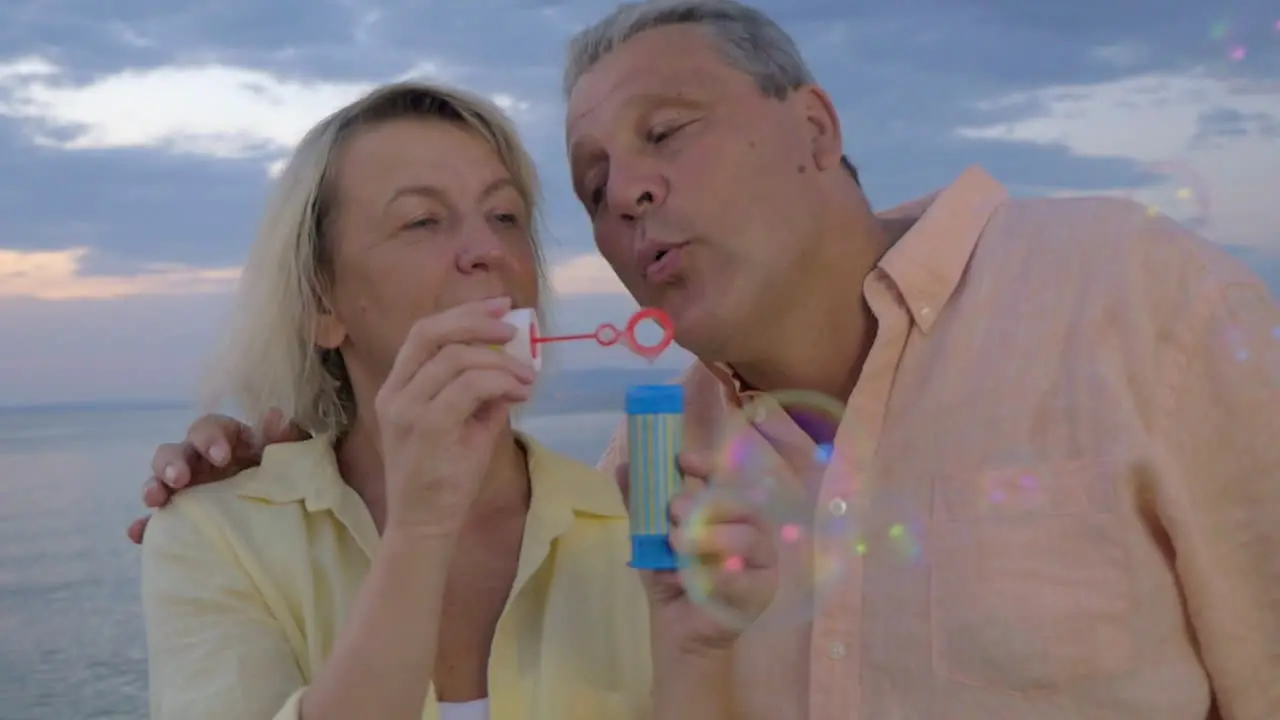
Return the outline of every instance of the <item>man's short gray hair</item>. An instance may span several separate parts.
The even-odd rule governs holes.
[[[815,85],[795,40],[763,12],[736,0],[644,0],[623,3],[570,40],[564,99],[577,81],[605,55],[649,29],[690,24],[704,29],[724,60],[755,81],[760,92],[783,100],[804,85]],[[847,156],[841,164],[858,179]]]

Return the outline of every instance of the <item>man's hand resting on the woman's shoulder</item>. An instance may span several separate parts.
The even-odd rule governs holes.
[[[257,466],[262,448],[276,442],[296,442],[310,436],[271,410],[259,428],[251,428],[227,415],[204,415],[187,430],[187,439],[156,448],[151,457],[151,478],[142,486],[142,503],[164,507],[173,493],[189,486],[225,480]],[[128,528],[129,539],[142,543],[150,516],[138,518]]]

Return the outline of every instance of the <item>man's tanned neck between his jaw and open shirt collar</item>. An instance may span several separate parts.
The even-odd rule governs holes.
[[[812,391],[844,404],[876,340],[863,281],[906,229],[869,211],[831,223],[822,242],[829,251],[806,273],[804,292],[772,320],[756,357],[732,363],[733,372],[754,389]]]

